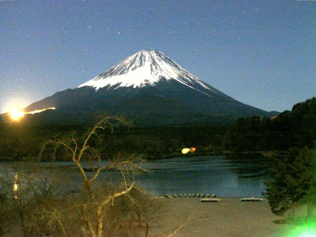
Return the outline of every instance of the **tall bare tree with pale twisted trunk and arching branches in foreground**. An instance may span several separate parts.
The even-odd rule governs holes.
[[[117,124],[130,125],[122,118],[106,117],[97,122],[82,140],[76,137],[75,133],[66,138],[56,136],[55,139],[47,141],[40,150],[39,160],[41,160],[46,147],[53,145],[52,159],[55,160],[56,151],[59,147],[63,147],[70,155],[74,164],[78,167],[88,197],[87,201],[83,201],[80,204],[82,219],[85,224],[85,230],[91,237],[102,237],[107,207],[114,205],[116,198],[124,196],[131,191],[135,185],[135,171],[141,169],[141,167],[134,162],[135,160],[139,160],[136,156],[118,157],[114,160],[108,160],[108,164],[103,165],[100,150],[90,146],[91,140],[99,138],[98,131],[105,129],[112,131]],[[92,176],[88,175],[85,171],[82,164],[83,159],[88,159],[90,162],[96,163],[97,167],[93,170]],[[121,173],[123,185],[112,189],[106,194],[100,195],[100,193],[97,192],[98,189],[96,188],[95,180],[102,171],[110,171],[113,169],[117,169]],[[93,219],[90,218],[89,208],[93,208]]]

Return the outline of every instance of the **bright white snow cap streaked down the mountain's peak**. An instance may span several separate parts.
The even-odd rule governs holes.
[[[162,52],[155,50],[141,50],[77,88],[82,86],[92,86],[96,90],[105,86],[116,86],[114,89],[129,86],[136,88],[155,85],[160,79],[176,80],[200,92],[202,91],[198,87],[202,86],[210,92],[224,95],[181,68]],[[207,95],[205,92],[202,93]]]

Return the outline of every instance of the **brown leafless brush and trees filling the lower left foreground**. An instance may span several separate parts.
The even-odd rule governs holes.
[[[74,189],[65,170],[31,165],[1,169],[0,237],[144,237],[164,210],[132,183]]]

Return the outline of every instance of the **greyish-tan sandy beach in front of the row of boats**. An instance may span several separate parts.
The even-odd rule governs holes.
[[[281,237],[289,224],[270,211],[268,201],[241,202],[237,197],[222,197],[222,202],[200,202],[198,197],[161,199],[166,209],[150,236],[171,234],[188,219],[175,236],[179,237]]]

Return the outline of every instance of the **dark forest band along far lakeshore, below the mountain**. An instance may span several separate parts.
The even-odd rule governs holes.
[[[91,125],[91,124],[90,124]],[[85,125],[30,123],[0,120],[0,157],[9,160],[37,157],[43,141],[56,134],[76,131]],[[110,133],[110,131],[108,131]],[[179,156],[184,147],[196,147],[197,154],[230,152],[287,151],[291,147],[312,148],[316,140],[316,98],[293,106],[275,118],[238,118],[231,124],[187,125],[184,127],[117,128],[104,136],[99,146],[105,156],[117,152],[145,155],[147,158]],[[63,159],[59,157],[58,159]]]

